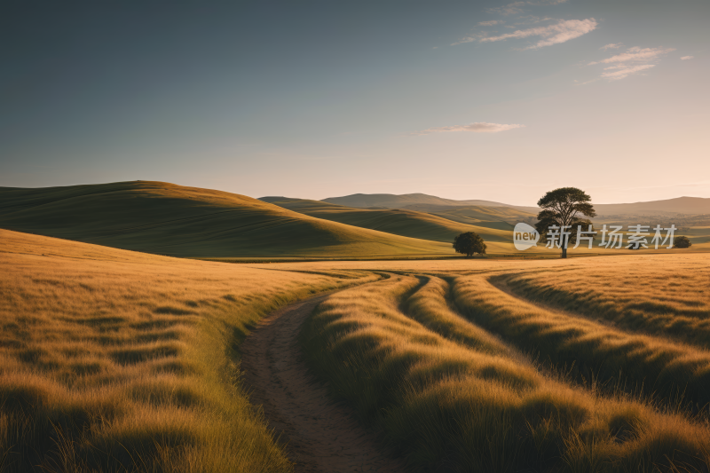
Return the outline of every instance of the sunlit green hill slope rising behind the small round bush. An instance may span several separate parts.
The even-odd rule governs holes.
[[[311,217],[423,240],[450,242],[456,235],[465,232],[478,233],[486,241],[509,242],[512,239],[513,225],[503,221],[478,221],[486,225],[470,225],[472,220],[461,223],[409,209],[355,209],[324,201],[286,197],[262,197],[260,200]]]

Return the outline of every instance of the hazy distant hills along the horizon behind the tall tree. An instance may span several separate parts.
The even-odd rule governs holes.
[[[346,207],[361,209],[413,209],[419,211],[443,211],[452,207],[508,207],[524,212],[537,214],[537,207],[510,205],[496,201],[454,201],[425,193],[354,193],[343,197],[329,197],[324,202],[335,203]],[[710,199],[701,197],[678,197],[665,201],[648,201],[634,203],[596,204],[596,213],[599,216],[618,215],[701,215],[710,214]]]

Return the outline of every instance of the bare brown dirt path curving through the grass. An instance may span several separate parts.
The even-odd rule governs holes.
[[[242,343],[241,369],[251,401],[264,407],[269,426],[288,443],[296,473],[405,471],[381,452],[352,411],[336,406],[312,378],[298,346],[304,320],[327,295],[288,305],[263,319]]]

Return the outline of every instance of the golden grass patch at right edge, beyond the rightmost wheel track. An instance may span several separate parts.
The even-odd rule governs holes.
[[[587,272],[549,272],[542,278],[525,273],[506,282],[535,303],[710,348],[708,266],[668,264],[649,271],[639,265],[619,271],[607,263]]]

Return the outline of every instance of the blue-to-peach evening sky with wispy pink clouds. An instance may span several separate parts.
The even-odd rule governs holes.
[[[0,186],[710,198],[710,2],[0,3]]]

